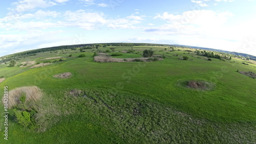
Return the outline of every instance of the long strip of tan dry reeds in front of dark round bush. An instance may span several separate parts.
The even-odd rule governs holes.
[[[141,60],[142,62],[148,61],[148,58],[112,58],[112,57],[102,57],[102,56],[96,56],[94,57],[95,62],[134,62],[135,60]],[[163,60],[162,58],[158,58],[158,61]]]

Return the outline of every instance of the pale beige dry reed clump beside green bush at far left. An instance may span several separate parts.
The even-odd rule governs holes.
[[[12,108],[17,104],[20,104],[19,97],[23,94],[26,94],[26,101],[37,101],[42,97],[42,91],[37,86],[18,87],[9,91],[8,106]],[[4,97],[2,103],[4,104]]]

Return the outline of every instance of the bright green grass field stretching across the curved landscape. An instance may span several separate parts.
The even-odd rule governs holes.
[[[131,49],[115,48],[114,51]],[[164,48],[133,46],[133,54],[115,57],[142,57],[143,50],[152,49],[155,55],[166,57],[156,62],[97,63],[93,61],[92,50],[83,53],[77,50],[67,54],[39,53],[18,61],[72,54],[72,58],[44,67],[1,64],[0,76],[6,78],[0,83],[1,95],[4,86],[9,91],[33,85],[42,89],[43,97],[33,103],[42,115],[37,119],[38,124],[45,129],[38,132],[24,128],[9,109],[9,140],[4,140],[4,119],[1,119],[1,143],[255,142],[256,80],[237,70],[256,73],[256,65],[244,65],[235,58],[208,61],[204,56],[183,51],[187,49],[169,52],[170,49],[164,51]],[[110,47],[100,49],[103,52]],[[112,53],[116,52],[109,55]],[[78,58],[80,54],[86,57]],[[180,60],[180,56],[193,60]],[[73,76],[53,77],[65,72]],[[210,91],[183,88],[178,85],[181,80],[203,80],[215,83],[216,87]],[[73,89],[82,90],[86,96],[70,95]],[[0,112],[4,115],[3,105]]]

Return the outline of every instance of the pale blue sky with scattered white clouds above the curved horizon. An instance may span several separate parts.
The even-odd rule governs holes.
[[[255,1],[2,1],[0,56],[109,42],[183,44],[256,56]]]

